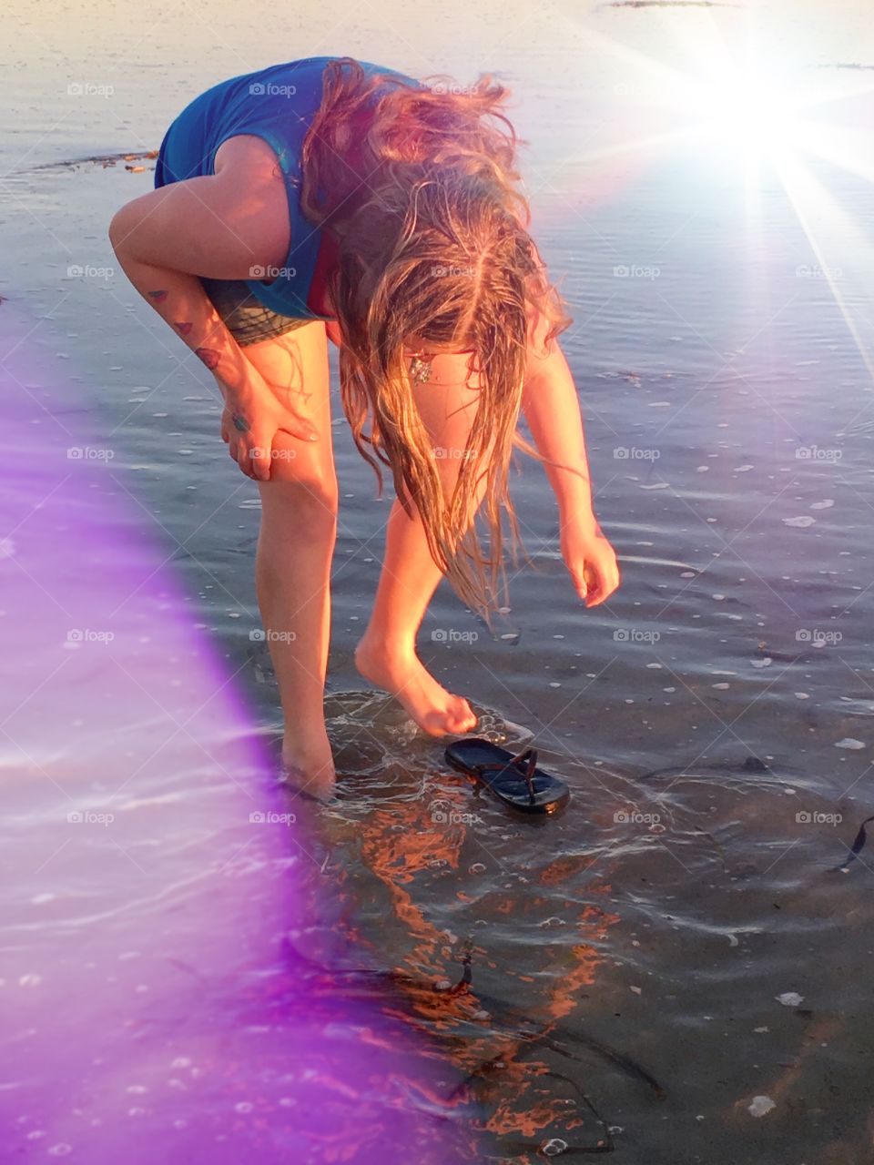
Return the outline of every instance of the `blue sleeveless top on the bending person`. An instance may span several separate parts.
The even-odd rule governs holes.
[[[305,319],[330,319],[306,306],[322,231],[301,210],[301,147],[322,103],[322,72],[336,57],[304,57],[241,73],[196,97],[170,123],[155,164],[155,186],[214,174],[216,151],[228,137],[254,134],[275,151],[286,179],[291,241],[282,274],[268,285],[245,280],[266,308]],[[417,87],[421,82],[396,69],[366,61],[366,75],[392,73]]]

